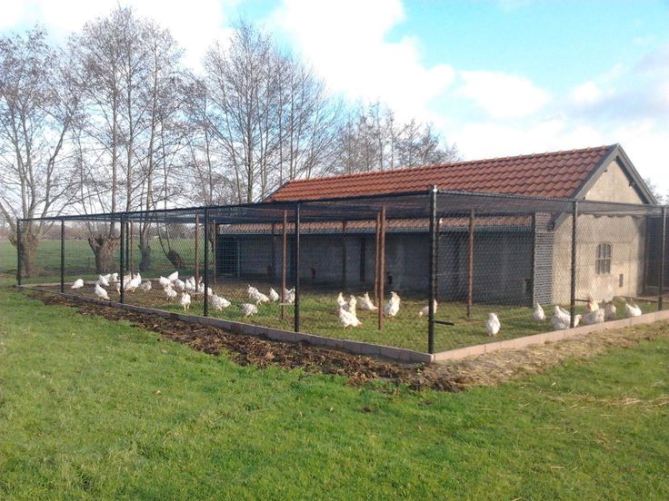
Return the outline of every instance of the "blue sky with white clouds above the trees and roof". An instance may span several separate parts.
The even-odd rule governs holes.
[[[2,0],[0,33],[40,23],[60,41],[117,4],[169,27],[193,67],[245,17],[465,159],[620,142],[669,192],[667,1]]]

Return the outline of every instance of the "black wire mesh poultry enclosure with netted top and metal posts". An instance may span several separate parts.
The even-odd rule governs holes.
[[[441,351],[666,308],[665,212],[431,191],[25,220],[18,279]]]

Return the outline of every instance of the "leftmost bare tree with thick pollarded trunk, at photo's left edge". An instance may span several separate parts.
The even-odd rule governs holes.
[[[78,103],[43,30],[0,38],[0,213],[27,277],[47,224],[23,224],[17,241],[17,220],[57,215],[71,197],[65,142]]]

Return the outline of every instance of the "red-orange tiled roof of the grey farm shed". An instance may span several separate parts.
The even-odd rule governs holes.
[[[287,182],[270,201],[440,190],[570,198],[615,145]]]

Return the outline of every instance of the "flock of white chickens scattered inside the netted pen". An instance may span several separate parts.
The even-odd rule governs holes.
[[[139,273],[126,275],[123,284],[125,292],[147,292],[153,288],[151,280],[142,280],[142,276]],[[176,300],[176,298],[179,297],[179,293],[181,293],[179,304],[184,307],[184,310],[190,308],[191,300],[194,295],[205,295],[205,284],[203,283],[202,278],[195,280],[195,277],[190,277],[186,280],[180,280],[178,271],[175,271],[167,277],[161,276],[158,279],[158,284],[163,289],[167,300]],[[72,284],[71,289],[82,289],[84,285],[85,283],[83,279],[77,279]],[[120,294],[121,280],[118,278],[118,273],[109,273],[107,275],[98,276],[93,291],[97,298],[108,301],[110,299],[107,289],[112,287],[115,288],[116,293]],[[239,308],[242,309],[245,317],[251,317],[257,314],[258,307],[265,303],[279,302],[281,300],[280,295],[274,289],[270,289],[269,293],[265,295],[260,290],[249,285],[246,293],[250,301],[239,305]],[[209,304],[215,310],[220,311],[232,305],[232,303],[229,300],[226,300],[223,296],[218,296],[211,287],[207,288],[206,294],[209,297]],[[286,305],[295,304],[295,289],[284,290],[284,301],[283,304]],[[391,292],[390,299],[384,304],[384,316],[389,318],[396,317],[397,313],[400,311],[401,301],[402,300],[396,292]],[[363,325],[363,322],[358,319],[358,310],[378,311],[378,307],[374,305],[374,301],[370,299],[368,292],[365,292],[363,296],[358,296],[357,298],[354,295],[351,295],[348,300],[344,300],[344,294],[340,292],[337,296],[336,303],[337,316],[344,329],[348,327],[361,327]],[[634,303],[625,301],[624,306],[625,316],[628,318],[638,317],[642,314],[641,309]],[[434,300],[434,311],[436,311],[436,309],[437,302]],[[585,309],[586,312],[584,314],[574,316],[574,327],[577,327],[580,324],[594,325],[616,319],[617,312],[613,301],[603,302],[600,305],[595,300],[590,299],[588,300]],[[424,317],[428,312],[428,306],[424,306],[418,311],[418,317]],[[534,308],[533,318],[537,322],[544,322],[547,319],[544,309],[539,303],[537,303]],[[569,329],[571,327],[571,320],[569,311],[558,305],[554,306],[553,317],[551,318],[551,325],[554,329]],[[501,328],[502,324],[497,314],[489,313],[488,319],[485,322],[485,330],[488,335],[496,336]]]

